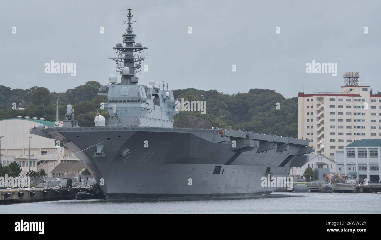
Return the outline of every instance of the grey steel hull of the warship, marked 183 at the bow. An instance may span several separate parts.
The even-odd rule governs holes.
[[[43,131],[78,156],[107,200],[272,193],[284,185],[265,183],[264,177],[288,177],[289,160],[297,158],[301,149],[289,146],[282,151],[275,147],[261,151],[259,146],[237,151],[232,149],[230,137],[215,138],[215,132],[208,129],[105,127]]]

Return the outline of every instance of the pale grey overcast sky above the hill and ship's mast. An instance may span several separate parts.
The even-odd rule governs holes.
[[[136,42],[148,47],[139,84],[229,94],[269,88],[289,98],[339,92],[357,63],[364,85],[381,91],[380,1],[2,0],[0,85],[64,92],[90,80],[107,84],[128,5]],[[76,63],[77,75],[45,73],[51,60]],[[306,73],[312,60],[337,63],[337,76]]]

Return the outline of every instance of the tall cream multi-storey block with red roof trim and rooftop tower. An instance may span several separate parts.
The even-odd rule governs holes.
[[[359,86],[359,76],[345,73],[341,93],[298,93],[298,137],[316,153],[334,159],[351,142],[381,138],[381,95]]]

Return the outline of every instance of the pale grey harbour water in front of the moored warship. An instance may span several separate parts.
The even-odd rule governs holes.
[[[0,205],[0,213],[381,213],[381,193],[272,193],[237,200],[100,199]],[[327,204],[329,203],[329,204]]]

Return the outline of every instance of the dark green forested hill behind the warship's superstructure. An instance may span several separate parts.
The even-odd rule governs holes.
[[[45,87],[30,89],[11,89],[0,85],[0,119],[22,115],[56,119],[56,100],[59,98],[59,120],[62,120],[66,105],[72,104],[75,118],[80,126],[93,126],[94,117],[99,111],[108,120],[107,111],[101,111],[99,104],[105,96],[96,95],[100,84],[86,82],[63,93],[50,92]],[[175,127],[245,129],[257,133],[297,137],[298,134],[298,99],[284,98],[275,90],[250,89],[247,93],[233,95],[217,90],[197,90],[194,88],[173,90],[174,97],[189,101],[206,101],[206,114],[200,112],[179,112],[174,117]],[[17,108],[13,110],[12,103]],[[22,105],[20,105],[22,103]],[[278,108],[277,109],[277,103]],[[46,117],[45,117],[46,116]]]

